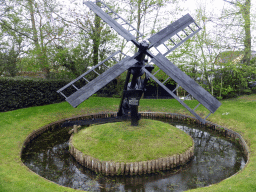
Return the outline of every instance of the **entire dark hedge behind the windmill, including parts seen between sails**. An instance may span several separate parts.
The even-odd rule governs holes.
[[[65,101],[65,98],[56,91],[68,84],[71,80],[47,80],[28,79],[21,77],[1,77],[0,78],[0,112],[15,109],[42,106],[47,104]],[[100,89],[96,95],[100,97],[120,97],[123,91],[124,80],[114,79],[108,85]],[[82,83],[76,84],[78,88]],[[155,84],[149,82],[145,92],[145,98],[170,98],[164,90],[156,91]],[[173,86],[170,84],[170,86]],[[175,87],[175,85],[174,85]],[[174,89],[172,87],[171,89]],[[71,86],[63,91],[66,96],[71,95],[76,90]],[[158,94],[158,95],[157,95]],[[150,97],[147,97],[150,96]]]

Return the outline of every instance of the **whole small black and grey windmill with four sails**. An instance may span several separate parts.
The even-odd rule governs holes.
[[[117,116],[126,117],[130,115],[131,124],[134,126],[138,125],[138,120],[140,119],[140,115],[138,114],[139,100],[142,93],[145,91],[145,86],[149,78],[153,79],[173,98],[179,101],[179,103],[181,103],[203,124],[205,123],[206,118],[219,108],[221,103],[216,98],[165,57],[201,30],[189,14],[171,23],[166,28],[151,36],[147,41],[139,43],[136,40],[138,37],[135,37],[132,32],[140,34],[140,36],[143,36],[143,34],[132,27],[106,4],[100,2],[101,7],[91,1],[86,1],[84,4],[101,17],[101,19],[119,35],[127,41],[131,41],[138,47],[138,52],[130,57],[121,51],[117,51],[66,86],[59,89],[57,92],[62,94],[66,98],[66,101],[73,107],[77,107],[127,70],[126,81]],[[125,27],[128,28],[128,30]],[[120,54],[125,56],[125,58],[118,62],[117,56]],[[150,61],[145,59],[146,57],[149,58]],[[104,64],[109,61],[115,62],[115,65],[108,67]],[[154,69],[152,64],[159,67],[159,70],[154,74],[152,74]],[[160,70],[168,76],[168,78],[162,82],[156,77],[156,74]],[[94,74],[96,77],[92,78],[91,74]],[[142,78],[143,74],[145,77],[144,79]],[[173,79],[177,83],[177,87],[174,90],[170,90],[164,85],[169,79]],[[77,85],[78,82],[80,82],[79,87]],[[83,84],[82,86],[81,83]],[[190,108],[175,94],[175,91],[179,86],[185,89],[189,95],[198,101],[198,105],[194,109]],[[70,87],[73,89],[73,93],[67,96],[65,90]],[[201,104],[210,112],[205,118],[200,117],[195,112],[197,107]]]

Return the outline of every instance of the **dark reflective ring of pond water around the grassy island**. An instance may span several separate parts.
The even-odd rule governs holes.
[[[166,120],[165,120],[166,121]],[[46,132],[22,154],[23,163],[59,185],[86,191],[185,191],[218,183],[246,164],[242,150],[215,132],[182,123],[170,124],[188,133],[194,158],[183,167],[142,176],[103,176],[78,164],[68,151],[69,129]]]

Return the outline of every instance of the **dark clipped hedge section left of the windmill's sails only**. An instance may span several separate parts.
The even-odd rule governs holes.
[[[0,78],[0,111],[41,106],[64,101],[56,91],[65,80]]]

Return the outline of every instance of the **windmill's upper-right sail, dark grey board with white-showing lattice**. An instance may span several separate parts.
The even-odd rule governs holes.
[[[148,41],[151,43],[150,48],[154,47],[158,52],[165,56],[179,47],[189,38],[194,36],[200,30],[201,28],[195,23],[194,19],[189,14],[187,14],[151,36]],[[167,40],[171,42],[172,47],[169,48],[165,44]],[[160,45],[164,46],[164,53],[158,49]]]

